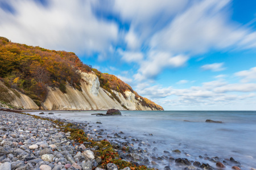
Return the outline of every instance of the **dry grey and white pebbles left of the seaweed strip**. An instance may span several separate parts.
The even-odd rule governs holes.
[[[92,169],[101,163],[90,150],[98,147],[72,141],[52,121],[5,111],[0,111],[0,120],[0,170]]]

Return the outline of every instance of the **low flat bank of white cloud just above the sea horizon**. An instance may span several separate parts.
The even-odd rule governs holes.
[[[255,99],[255,83],[228,83],[222,80],[204,82],[202,86],[192,86],[190,88],[177,89],[174,87],[143,86],[137,87],[137,92],[149,99],[157,101],[158,104],[172,108],[177,106],[207,106],[210,105],[241,105],[241,100],[248,101]],[[242,94],[241,94],[242,93]],[[255,103],[256,104],[256,103]],[[191,107],[190,107],[191,108]],[[214,107],[212,108],[214,109]]]

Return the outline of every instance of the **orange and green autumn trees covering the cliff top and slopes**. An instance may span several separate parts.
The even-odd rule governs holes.
[[[120,92],[123,96],[125,91],[129,90],[135,94],[136,99],[141,100],[142,105],[163,109],[139,96],[129,84],[122,82],[116,76],[101,73],[82,63],[75,53],[18,44],[0,37],[0,80],[7,87],[15,88],[29,96],[38,106],[46,99],[48,86],[57,87],[65,93],[68,83],[81,90],[79,70],[86,73],[93,70],[100,80],[100,86],[118,101],[118,97],[111,90]]]

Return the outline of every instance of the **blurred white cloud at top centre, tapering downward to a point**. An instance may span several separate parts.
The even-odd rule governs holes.
[[[172,16],[183,10],[187,3],[188,0],[115,0],[113,10],[136,29],[139,35],[136,39],[142,42],[147,41],[152,33],[161,29]]]

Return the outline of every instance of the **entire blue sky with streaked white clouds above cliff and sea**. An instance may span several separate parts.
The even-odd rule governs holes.
[[[0,0],[0,36],[75,52],[165,110],[256,110],[256,1]]]

